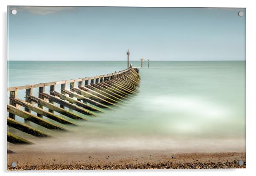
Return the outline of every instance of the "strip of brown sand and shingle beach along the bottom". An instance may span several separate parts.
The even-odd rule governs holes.
[[[243,160],[244,165],[238,161]],[[11,167],[17,162],[17,167]],[[245,153],[168,151],[20,152],[7,154],[7,170],[245,168]]]

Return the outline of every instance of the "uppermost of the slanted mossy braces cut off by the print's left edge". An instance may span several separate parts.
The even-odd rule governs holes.
[[[51,122],[48,122],[48,121],[44,120],[43,118],[39,118],[39,117],[37,117],[37,116],[35,116],[31,113],[28,113],[24,110],[21,110],[17,107],[14,107],[11,104],[7,104],[7,111],[10,112],[10,113],[13,113],[15,115],[18,115],[18,116],[20,116],[24,119],[27,119],[31,122],[34,122],[35,124],[46,127],[48,129],[60,129],[60,130],[63,130],[63,131],[67,131],[65,128],[63,128],[61,126],[55,125]]]

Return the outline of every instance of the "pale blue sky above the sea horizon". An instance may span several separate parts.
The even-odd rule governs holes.
[[[245,60],[245,8],[9,6],[7,13],[9,60],[127,60],[128,49],[130,60]]]

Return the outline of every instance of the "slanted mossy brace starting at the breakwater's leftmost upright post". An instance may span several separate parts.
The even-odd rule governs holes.
[[[29,99],[29,98],[28,98]],[[29,99],[31,101],[31,99]],[[20,106],[23,106],[25,107],[26,109],[28,110],[32,110],[40,115],[44,115],[46,116],[47,118],[50,118],[51,120],[54,120],[54,121],[57,121],[57,122],[60,122],[62,124],[72,124],[72,125],[75,125],[73,122],[71,121],[68,121],[66,120],[65,118],[63,117],[60,117],[59,115],[56,115],[54,113],[50,113],[44,109],[41,109],[40,107],[36,107],[28,102],[24,102],[23,100],[21,99],[15,99],[15,102],[16,104],[19,104]]]

